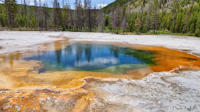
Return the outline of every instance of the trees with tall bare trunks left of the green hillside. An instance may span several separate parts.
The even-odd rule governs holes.
[[[34,6],[28,6],[26,0],[17,4],[16,0],[5,0],[0,4],[0,26],[20,30],[61,30],[61,31],[96,31],[103,15],[91,6],[91,0],[75,0],[72,9],[68,0],[54,0],[53,8],[47,2],[34,0]],[[61,8],[62,7],[62,8]]]

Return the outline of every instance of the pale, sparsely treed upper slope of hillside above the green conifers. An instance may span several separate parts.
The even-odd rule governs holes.
[[[157,2],[155,4],[155,2]],[[187,8],[191,5],[196,5],[199,0],[116,0],[113,3],[104,7],[106,13],[111,12],[113,9],[127,8],[131,12],[147,11],[152,4],[158,5],[162,10],[170,11],[176,5],[181,8]],[[178,8],[177,7],[177,8]]]

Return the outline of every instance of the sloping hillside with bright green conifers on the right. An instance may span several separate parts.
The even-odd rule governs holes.
[[[116,0],[103,11],[115,31],[200,36],[200,0]]]

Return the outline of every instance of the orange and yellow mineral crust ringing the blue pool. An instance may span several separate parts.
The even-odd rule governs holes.
[[[53,46],[55,49],[61,49],[68,44],[58,41]],[[163,47],[110,44],[153,51],[156,65],[131,70],[121,75],[87,71],[39,74],[38,70],[42,67],[40,62],[21,60],[21,57],[50,50],[51,44],[40,46],[40,50],[34,53],[26,51],[30,52],[29,55],[24,55],[23,52],[0,55],[0,112],[140,112],[130,105],[107,102],[106,96],[111,93],[96,88],[95,84],[106,86],[103,85],[103,80],[116,83],[121,78],[142,79],[152,72],[200,69],[200,58],[185,52]]]

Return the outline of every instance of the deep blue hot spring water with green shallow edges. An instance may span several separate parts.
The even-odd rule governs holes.
[[[40,72],[77,70],[121,74],[155,64],[152,54],[114,45],[75,43],[25,60],[41,61],[44,68]]]

